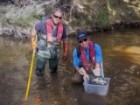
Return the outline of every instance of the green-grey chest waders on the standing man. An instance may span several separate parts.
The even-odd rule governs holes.
[[[36,73],[43,75],[46,62],[49,62],[50,72],[57,71],[58,60],[60,56],[60,43],[57,43],[56,37],[52,36],[52,44],[46,43],[46,35],[40,34],[37,41],[37,62]]]

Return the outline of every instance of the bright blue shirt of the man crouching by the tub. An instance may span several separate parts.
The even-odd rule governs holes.
[[[94,46],[93,47],[95,48],[95,62],[100,63],[103,61],[101,47],[96,43],[94,44]],[[89,59],[89,49],[86,50],[84,53],[85,53],[86,58]],[[73,66],[74,66],[74,68],[75,69],[79,68],[79,64],[81,62],[82,62],[81,57],[78,57],[77,49],[75,48],[73,50]]]

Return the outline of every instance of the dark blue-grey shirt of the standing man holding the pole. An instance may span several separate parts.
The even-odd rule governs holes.
[[[43,17],[42,20],[35,25],[35,30],[40,31],[43,35],[47,34],[47,32],[46,32],[46,19],[47,19],[47,17]],[[57,36],[57,28],[58,27],[53,29],[53,36],[54,37]],[[63,29],[63,34],[62,34],[62,40],[66,40],[68,38],[67,34],[66,34],[66,26],[63,25],[63,28],[64,29]]]

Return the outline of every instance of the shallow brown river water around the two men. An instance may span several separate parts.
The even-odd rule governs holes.
[[[100,44],[105,77],[110,77],[107,96],[86,94],[82,84],[72,84],[72,58],[62,61],[51,75],[48,65],[42,79],[33,72],[28,100],[25,92],[31,62],[29,41],[0,37],[0,105],[140,105],[140,30],[90,35]],[[70,54],[77,45],[70,38]]]

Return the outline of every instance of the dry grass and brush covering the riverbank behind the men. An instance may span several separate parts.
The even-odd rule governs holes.
[[[0,3],[0,35],[29,37],[34,23],[50,15],[54,7],[64,10],[69,34],[77,30],[96,32],[140,26],[139,0],[1,0]]]

